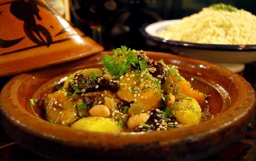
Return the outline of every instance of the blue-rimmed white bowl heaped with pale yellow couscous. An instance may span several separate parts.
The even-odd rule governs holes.
[[[250,12],[215,4],[180,20],[152,23],[143,35],[177,54],[228,63],[239,72],[244,63],[256,61],[255,26],[256,16]]]

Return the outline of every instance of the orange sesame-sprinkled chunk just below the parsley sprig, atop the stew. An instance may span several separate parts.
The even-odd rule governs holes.
[[[121,87],[117,91],[117,96],[127,102],[134,101],[143,107],[144,111],[158,108],[162,99],[162,92],[157,88],[156,81],[149,74],[127,73],[123,78],[120,78]]]

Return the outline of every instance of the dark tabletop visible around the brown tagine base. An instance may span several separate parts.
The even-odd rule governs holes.
[[[246,65],[240,73],[256,90],[256,63]],[[12,77],[0,78],[0,90]],[[1,120],[1,119],[0,119]],[[35,147],[36,148],[36,147]],[[5,132],[0,121],[0,161],[48,161],[17,145]],[[256,161],[256,114],[247,127],[246,136],[220,153],[203,161]]]

